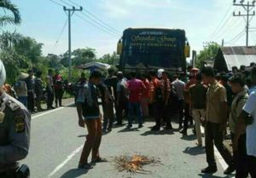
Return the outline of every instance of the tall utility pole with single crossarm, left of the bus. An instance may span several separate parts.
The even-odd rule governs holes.
[[[68,15],[68,80],[71,80],[71,69],[72,69],[72,60],[71,60],[71,16],[74,14],[75,11],[82,11],[83,7],[80,9],[67,9],[66,6],[63,6],[64,11],[67,11]]]

